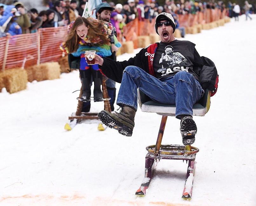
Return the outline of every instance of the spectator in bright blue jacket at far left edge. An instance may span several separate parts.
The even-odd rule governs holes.
[[[16,15],[18,15],[18,13],[15,6],[8,5],[5,8],[3,16],[0,18],[1,32],[9,33],[11,36],[22,34],[21,27],[15,22]]]

